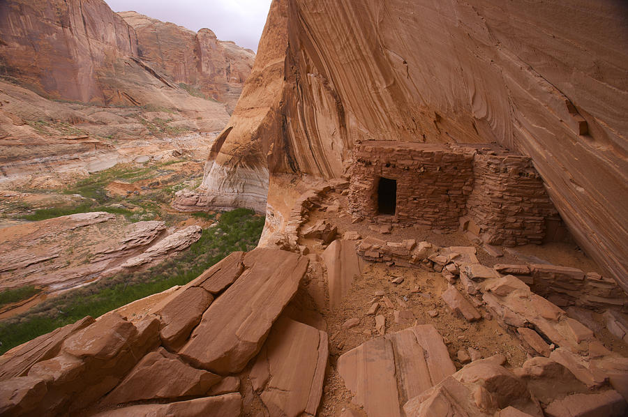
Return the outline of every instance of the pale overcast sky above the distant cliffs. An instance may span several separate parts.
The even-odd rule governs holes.
[[[207,27],[220,40],[257,52],[271,0],[105,0],[114,12],[133,10],[193,31]]]

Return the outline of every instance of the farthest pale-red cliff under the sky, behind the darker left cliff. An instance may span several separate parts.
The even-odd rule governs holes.
[[[140,59],[233,109],[251,73],[255,54],[214,32],[198,33],[132,11],[118,13],[137,33]]]

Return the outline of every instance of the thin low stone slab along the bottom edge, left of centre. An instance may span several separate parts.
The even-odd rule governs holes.
[[[242,397],[233,393],[170,404],[134,405],[103,411],[94,417],[238,417],[241,411]]]

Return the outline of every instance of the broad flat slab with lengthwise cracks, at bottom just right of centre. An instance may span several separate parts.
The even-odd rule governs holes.
[[[338,373],[354,403],[373,417],[401,416],[403,403],[455,371],[431,325],[369,340],[338,358]]]

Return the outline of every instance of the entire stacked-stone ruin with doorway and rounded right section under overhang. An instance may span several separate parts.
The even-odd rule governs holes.
[[[557,236],[560,216],[526,156],[499,146],[391,144],[368,141],[354,149],[349,210],[374,217],[380,178],[397,181],[395,219],[437,229],[472,232],[484,242],[543,243],[547,225]]]

